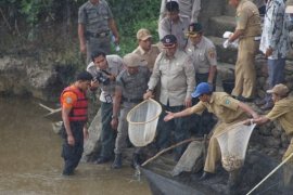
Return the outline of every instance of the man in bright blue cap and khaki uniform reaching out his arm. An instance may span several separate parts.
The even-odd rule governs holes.
[[[220,160],[220,150],[216,135],[233,123],[249,117],[258,118],[258,115],[249,105],[231,98],[226,92],[213,92],[207,82],[200,83],[191,95],[200,99],[196,105],[179,113],[168,112],[164,120],[169,121],[192,114],[202,114],[205,109],[217,116],[219,122],[216,125],[209,140],[204,173],[201,177],[201,180],[206,180],[215,173],[216,162]]]

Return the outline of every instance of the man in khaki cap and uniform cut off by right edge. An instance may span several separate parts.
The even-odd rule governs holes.
[[[288,96],[289,89],[286,86],[279,83],[276,84],[271,90],[267,91],[272,95],[272,101],[275,103],[272,109],[265,116],[260,116],[257,119],[247,120],[247,122],[254,122],[257,125],[266,123],[272,120],[278,120],[285,133],[288,134],[290,145],[283,155],[284,160],[290,154],[293,153],[293,98]],[[284,169],[284,187],[286,190],[293,190],[293,157],[290,162],[286,164]]]

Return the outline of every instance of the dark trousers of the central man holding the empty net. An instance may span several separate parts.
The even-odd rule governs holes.
[[[175,118],[167,122],[164,121],[166,110],[177,113],[181,112],[183,106],[168,106],[162,105],[163,112],[158,119],[156,147],[163,150],[169,146],[171,140],[171,133],[174,132],[174,141],[176,143],[183,141],[190,136],[189,129],[187,128],[187,118]],[[175,148],[177,155],[181,155],[184,152],[186,145],[181,145]]]

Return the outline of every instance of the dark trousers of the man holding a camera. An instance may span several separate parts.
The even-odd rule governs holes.
[[[100,156],[105,158],[111,158],[115,147],[116,131],[111,127],[113,114],[113,104],[101,103],[101,115],[102,115],[102,132],[101,132],[101,143],[102,148]]]

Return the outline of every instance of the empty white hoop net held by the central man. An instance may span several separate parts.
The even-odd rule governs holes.
[[[128,113],[128,135],[135,146],[145,146],[154,140],[161,113],[161,105],[152,99],[143,101]]]

